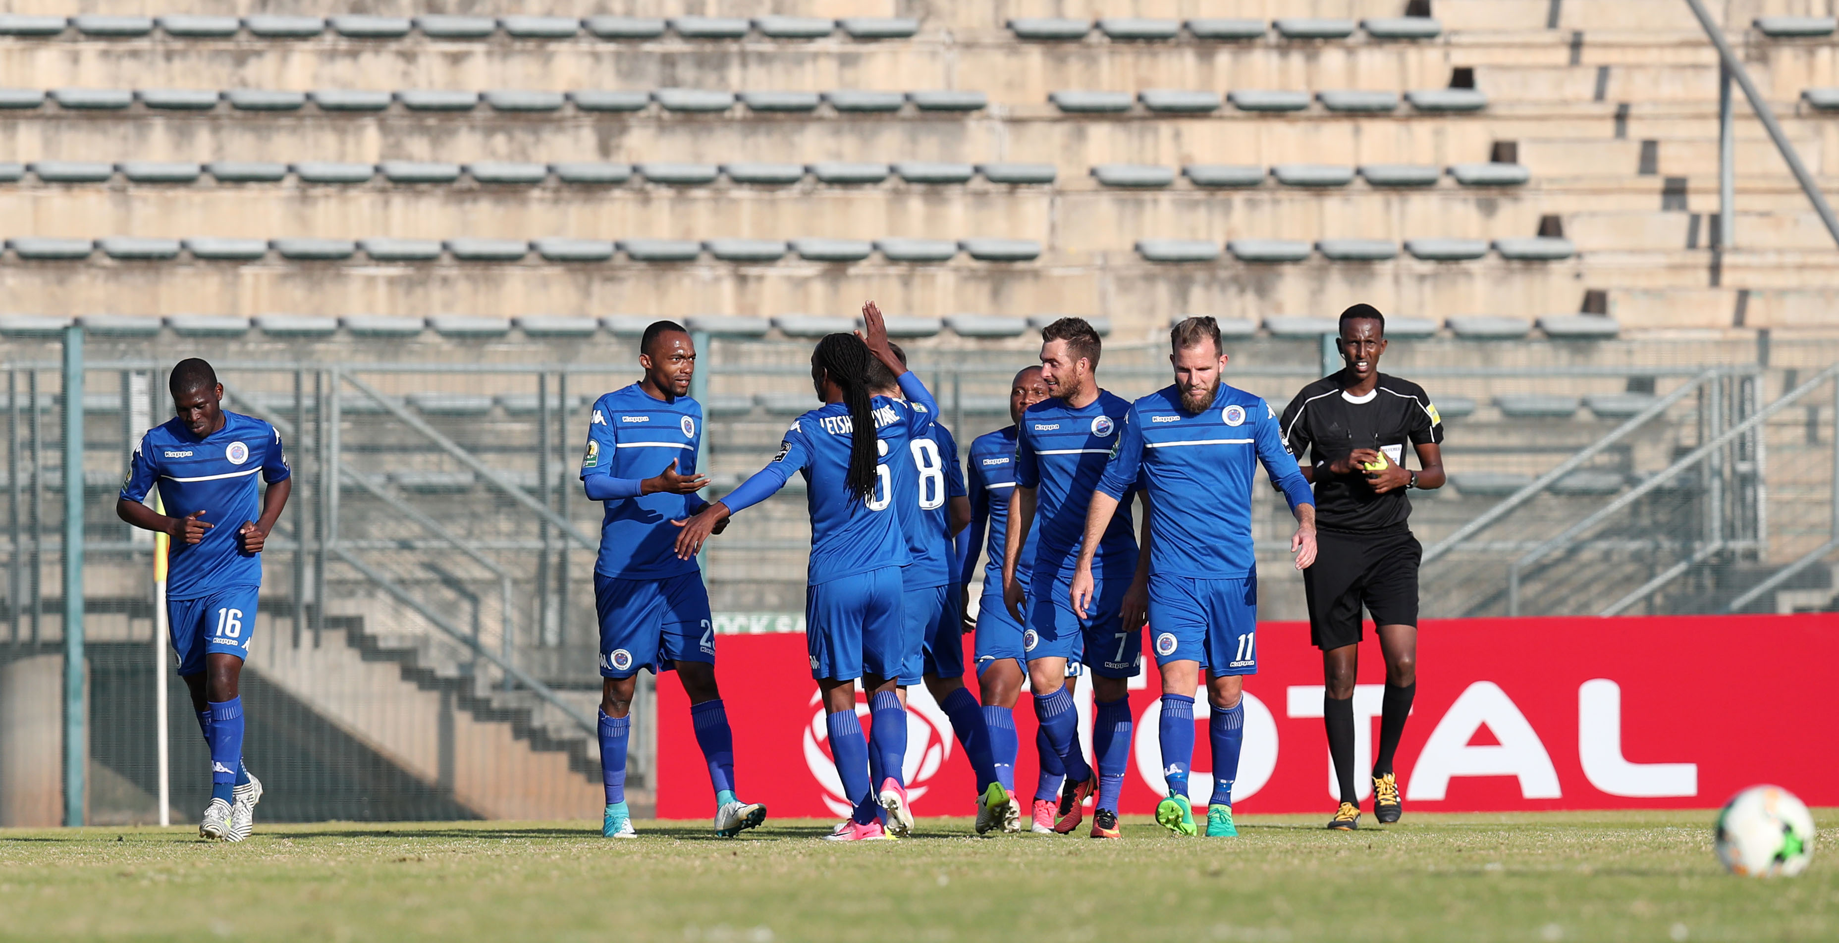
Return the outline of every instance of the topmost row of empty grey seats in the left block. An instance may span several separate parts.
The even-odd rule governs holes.
[[[241,31],[261,39],[313,39],[327,29],[344,39],[401,39],[419,31],[428,39],[489,39],[504,33],[511,39],[576,39],[588,33],[598,39],[642,40],[671,31],[682,39],[745,39],[758,33],[767,39],[820,39],[842,29],[851,39],[903,39],[920,31],[920,20],[905,17],[35,17],[0,13],[0,35],[55,37],[74,29],[85,37],[145,37],[154,29],[169,37],[226,39]]]

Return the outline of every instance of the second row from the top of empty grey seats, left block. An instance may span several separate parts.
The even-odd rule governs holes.
[[[1214,96],[1217,99],[1217,96]],[[897,112],[908,103],[923,112],[975,112],[989,105],[984,92],[934,88],[916,92],[872,92],[842,88],[833,92],[717,92],[702,88],[539,92],[528,88],[314,88],[311,92],[278,88],[0,88],[0,108],[29,110],[46,101],[66,110],[121,110],[136,101],[167,112],[208,112],[219,101],[245,112],[298,112],[313,103],[322,112],[383,112],[392,103],[412,112],[471,112],[480,103],[498,112],[555,112],[574,105],[579,112],[638,112],[657,103],[668,112],[726,112],[736,103],[754,112],[811,112],[829,105],[837,112]]]

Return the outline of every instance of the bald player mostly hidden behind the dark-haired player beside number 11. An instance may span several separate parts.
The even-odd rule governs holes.
[[[1041,368],[1022,368],[1010,384],[1010,425],[995,432],[986,432],[971,441],[967,456],[969,472],[965,491],[971,496],[971,528],[965,535],[964,553],[964,629],[977,631],[977,686],[984,702],[984,726],[989,730],[991,765],[997,781],[1010,790],[1013,805],[1015,792],[1015,754],[1021,743],[1015,737],[1015,704],[1021,700],[1022,682],[1028,678],[1026,653],[1022,651],[1022,625],[1013,619],[1002,605],[1002,546],[1008,539],[1010,489],[1015,487],[1015,430],[1022,421],[1022,410],[1048,397],[1046,382],[1041,381]],[[989,562],[978,575],[978,561],[984,529],[989,529]],[[1039,539],[1039,531],[1030,531],[1030,540]],[[1022,590],[1028,588],[1028,568],[1034,564],[1034,546],[1022,548],[1017,561],[1015,577]],[[969,616],[971,588],[982,581],[982,596],[975,621]],[[1078,682],[1078,662],[1067,665],[1067,689]],[[1059,754],[1048,743],[1045,730],[1035,730],[1035,750],[1041,757],[1041,774],[1035,779],[1035,798],[1032,809],[1032,829],[1052,835],[1059,814],[1059,787],[1067,770],[1059,765]],[[1004,820],[1004,831],[1021,831],[1021,824],[1011,827]]]

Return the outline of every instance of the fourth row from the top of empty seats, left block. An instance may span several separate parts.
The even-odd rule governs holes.
[[[511,263],[537,254],[557,263],[609,261],[616,252],[629,261],[690,263],[708,256],[730,263],[772,263],[785,256],[805,261],[853,263],[879,252],[892,263],[943,263],[960,252],[977,261],[1034,261],[1034,239],[164,239],[118,235],[105,239],[13,237],[6,241],[28,261],[77,261],[97,250],[120,261],[169,261],[180,252],[200,261],[257,261],[270,252],[291,261],[344,261],[362,252],[370,261],[436,261],[441,256],[465,263]]]

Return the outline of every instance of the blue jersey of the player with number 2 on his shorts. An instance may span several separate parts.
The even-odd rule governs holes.
[[[677,559],[671,520],[702,509],[695,494],[640,494],[638,483],[655,478],[671,460],[677,474],[695,474],[702,441],[702,404],[690,397],[653,399],[636,382],[594,401],[587,426],[581,480],[609,476],[618,498],[603,502],[600,557],[594,572],[609,579],[669,579],[697,572],[695,561]]]

